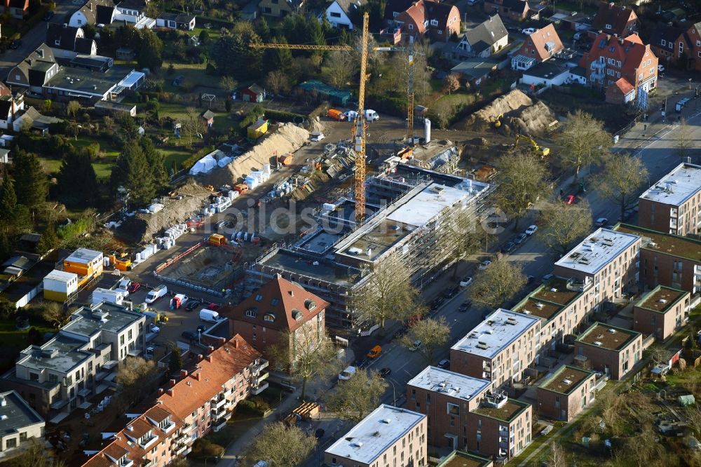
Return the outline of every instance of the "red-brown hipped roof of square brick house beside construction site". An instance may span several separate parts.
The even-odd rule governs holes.
[[[301,285],[276,277],[240,304],[222,307],[219,309],[219,314],[233,320],[294,332],[327,306],[329,306],[328,302],[307,292]],[[253,309],[256,316],[253,318],[247,316],[246,312]]]

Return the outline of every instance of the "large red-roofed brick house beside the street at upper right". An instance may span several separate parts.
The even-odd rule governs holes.
[[[579,63],[587,83],[604,90],[606,102],[627,104],[657,86],[658,57],[637,34],[625,38],[601,33]]]

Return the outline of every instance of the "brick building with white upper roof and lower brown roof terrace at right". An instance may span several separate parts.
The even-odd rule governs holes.
[[[531,442],[532,409],[491,381],[426,367],[407,383],[407,407],[428,417],[428,442],[509,459]]]

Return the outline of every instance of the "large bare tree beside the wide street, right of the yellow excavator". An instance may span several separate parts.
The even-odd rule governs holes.
[[[562,146],[562,151],[558,151],[560,161],[574,170],[575,183],[579,171],[601,161],[613,144],[613,137],[604,130],[604,122],[581,110],[567,114],[558,140]]]

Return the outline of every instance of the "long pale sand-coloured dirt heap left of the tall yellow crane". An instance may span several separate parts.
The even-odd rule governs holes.
[[[304,128],[299,128],[294,123],[283,123],[278,130],[268,133],[261,142],[226,167],[215,168],[203,175],[200,178],[201,183],[220,187],[223,184],[243,182],[253,170],[260,170],[264,164],[274,164],[276,156],[297,151],[308,139],[309,132]]]

